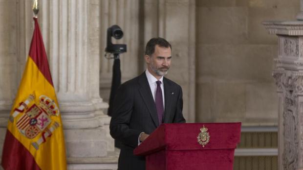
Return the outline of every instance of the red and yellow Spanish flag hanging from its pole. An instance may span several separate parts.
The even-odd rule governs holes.
[[[29,56],[9,116],[4,170],[66,170],[59,105],[37,18]]]

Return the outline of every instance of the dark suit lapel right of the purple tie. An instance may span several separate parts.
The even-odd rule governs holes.
[[[164,123],[168,123],[168,119],[170,117],[170,112],[172,109],[172,95],[173,95],[173,87],[167,81],[165,77],[163,77],[164,82],[164,97],[165,97],[165,109],[164,109]]]

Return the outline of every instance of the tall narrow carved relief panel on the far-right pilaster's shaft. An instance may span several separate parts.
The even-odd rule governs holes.
[[[284,126],[284,170],[296,170],[298,167],[298,97],[292,90],[285,91],[283,126]]]

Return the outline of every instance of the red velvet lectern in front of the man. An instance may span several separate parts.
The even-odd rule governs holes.
[[[204,147],[197,142],[203,125],[209,135]],[[240,132],[241,123],[162,124],[134,154],[146,156],[146,170],[233,170]]]

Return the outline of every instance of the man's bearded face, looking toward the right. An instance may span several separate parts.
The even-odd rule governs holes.
[[[171,48],[155,46],[151,56],[145,55],[147,67],[153,76],[164,76],[171,66]]]

